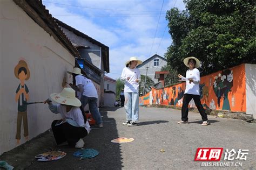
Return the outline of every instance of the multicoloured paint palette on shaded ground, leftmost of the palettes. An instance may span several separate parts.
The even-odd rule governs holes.
[[[35,158],[38,161],[52,161],[52,160],[61,159],[65,157],[65,155],[66,155],[66,152],[63,152],[63,151],[50,151],[50,152],[38,154],[35,156]]]

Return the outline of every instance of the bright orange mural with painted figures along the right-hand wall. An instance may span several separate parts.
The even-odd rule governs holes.
[[[185,86],[186,83],[182,82],[164,89],[152,88],[152,103],[181,107]],[[246,111],[245,65],[201,77],[199,90],[201,103],[206,109]],[[146,102],[145,98],[143,102]],[[196,107],[194,101],[189,107]]]

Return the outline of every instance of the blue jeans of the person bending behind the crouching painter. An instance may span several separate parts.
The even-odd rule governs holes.
[[[86,106],[86,104],[89,104],[89,110],[92,114],[93,119],[95,119],[96,124],[102,123],[102,116],[100,115],[100,112],[97,107],[97,100],[98,98],[95,97],[87,97],[87,96],[82,96],[81,102],[82,102],[82,107]]]

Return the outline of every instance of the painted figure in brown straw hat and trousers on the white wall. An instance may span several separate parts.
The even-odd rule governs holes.
[[[26,112],[26,107],[27,107],[26,102],[29,100],[29,89],[28,89],[28,86],[26,86],[25,81],[29,80],[30,71],[29,71],[28,65],[24,60],[20,60],[18,62],[18,65],[15,66],[14,74],[16,78],[19,79],[19,85],[15,95],[15,101],[16,103],[18,103],[16,140],[17,140],[17,144],[19,144],[21,140],[22,121],[23,121],[23,128],[24,128],[24,137],[26,140],[29,139],[28,117]]]

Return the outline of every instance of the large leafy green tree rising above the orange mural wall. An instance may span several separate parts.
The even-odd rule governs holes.
[[[183,59],[196,56],[201,75],[256,63],[255,1],[185,0],[186,10],[166,13],[173,44],[165,57],[185,75]]]

